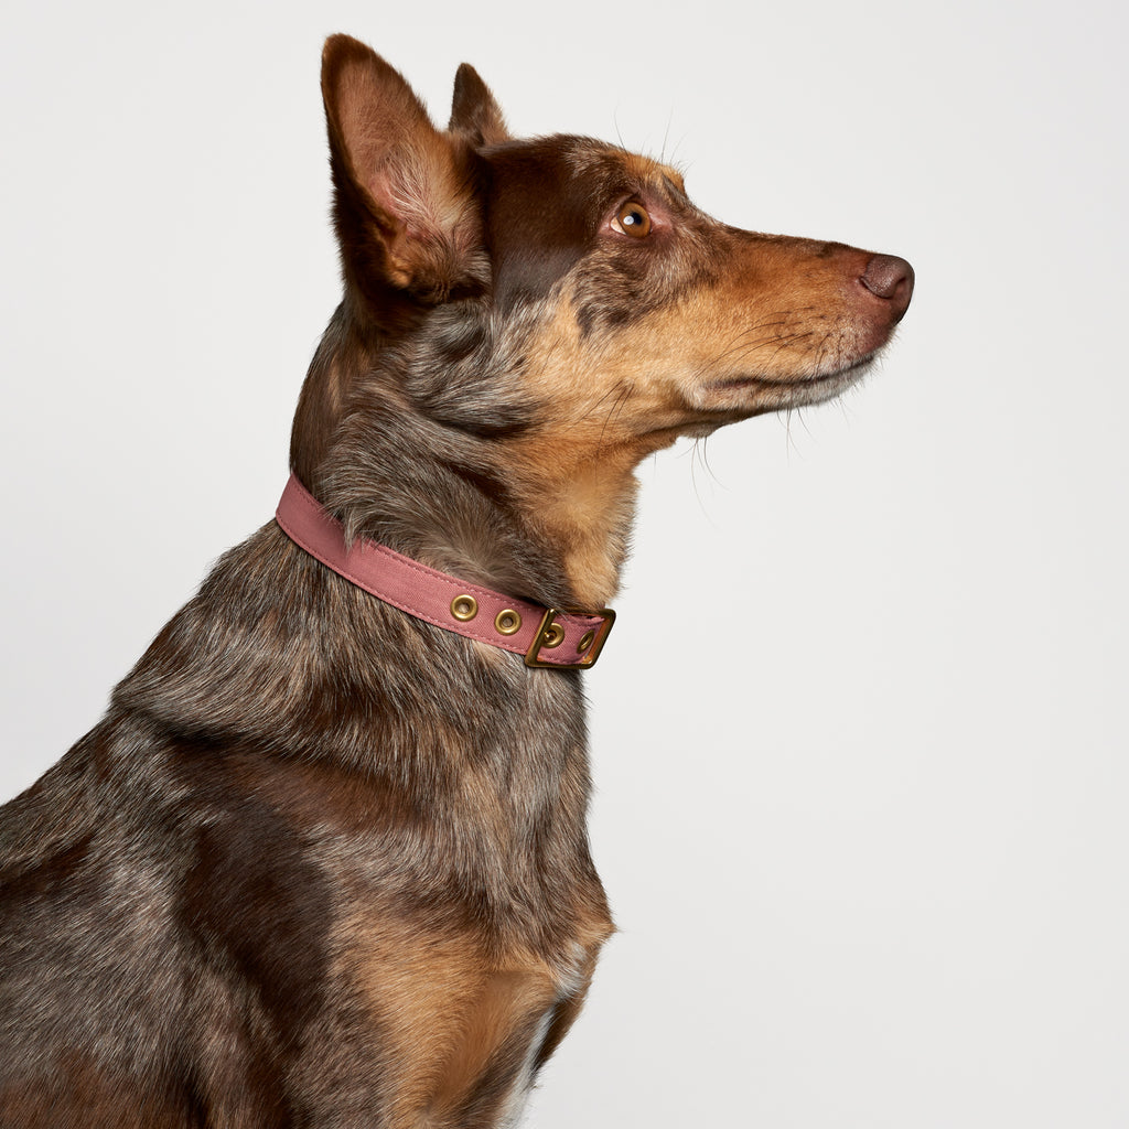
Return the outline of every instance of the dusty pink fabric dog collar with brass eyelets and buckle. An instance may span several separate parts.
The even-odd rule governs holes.
[[[358,588],[446,631],[524,655],[526,666],[592,666],[615,621],[610,607],[544,607],[467,584],[371,541],[347,545],[341,523],[292,474],[274,517],[291,541]]]

